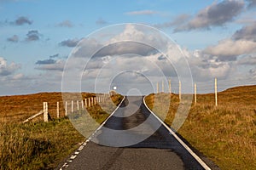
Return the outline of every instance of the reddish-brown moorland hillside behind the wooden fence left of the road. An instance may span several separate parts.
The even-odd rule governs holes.
[[[83,93],[83,98],[89,98],[96,94]],[[79,99],[79,94],[69,98],[71,100]],[[64,116],[65,111],[62,102],[61,93],[40,93],[14,96],[0,96],[0,122],[22,122],[29,116],[37,114],[43,110],[43,102],[48,102],[49,114],[56,117],[56,105],[60,102],[60,115]]]

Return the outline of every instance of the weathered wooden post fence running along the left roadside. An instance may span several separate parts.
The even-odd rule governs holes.
[[[79,111],[80,108],[82,110],[84,110],[84,108],[93,107],[93,106],[97,105],[98,103],[102,103],[102,102],[106,101],[106,99],[108,99],[109,97],[110,97],[110,94],[102,94],[102,95],[93,96],[90,98],[85,98],[84,100],[82,99],[81,101],[76,100],[76,106],[77,106],[76,111]],[[75,105],[74,105],[73,100],[71,100],[69,102],[65,101],[64,103],[65,103],[65,116],[67,116],[67,113],[68,113],[68,106],[71,107],[71,113],[73,113],[75,111],[74,110]],[[71,103],[71,105],[68,105],[70,103]],[[39,111],[36,115],[33,115],[33,116],[27,118],[23,122],[29,122],[32,119],[34,119],[35,117],[40,116],[40,115],[44,115],[44,122],[49,122],[50,116],[49,116],[49,111],[48,111],[48,102],[43,102],[43,110],[42,111]],[[57,102],[57,105],[56,105],[56,115],[57,115],[57,118],[60,118],[60,103],[59,102]]]

